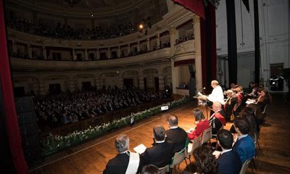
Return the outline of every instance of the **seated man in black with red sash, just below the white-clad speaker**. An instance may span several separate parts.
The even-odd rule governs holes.
[[[218,131],[226,126],[226,119],[224,110],[222,110],[222,104],[219,102],[213,102],[213,115],[209,118],[209,125],[211,125],[211,133],[216,136]]]

